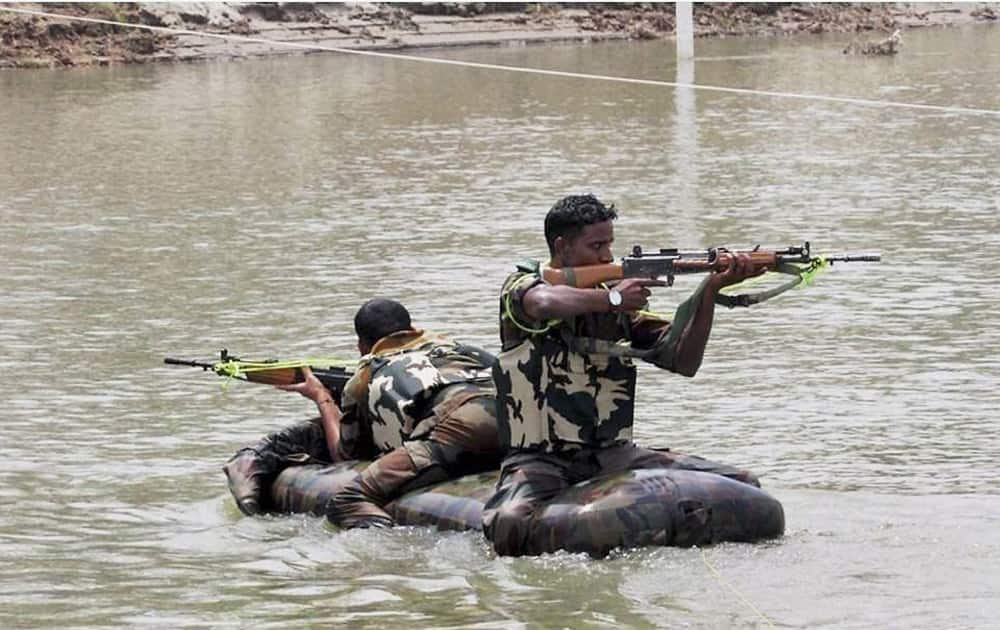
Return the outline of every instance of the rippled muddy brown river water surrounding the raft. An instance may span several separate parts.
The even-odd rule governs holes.
[[[896,58],[844,43],[699,41],[694,78],[1000,109],[996,28],[909,32]],[[424,54],[678,77],[663,42]],[[0,112],[0,626],[1000,614],[1000,117],[335,55],[5,72]],[[350,356],[375,295],[495,348],[506,271],[542,255],[557,198],[589,191],[621,211],[619,254],[808,239],[885,257],[719,312],[693,380],[641,370],[638,441],[755,470],[783,539],[497,559],[473,534],[235,511],[220,464],[309,406],[164,356]]]

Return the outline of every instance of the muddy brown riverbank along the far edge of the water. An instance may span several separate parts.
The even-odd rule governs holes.
[[[303,54],[310,47],[404,50],[674,36],[672,4],[0,3],[5,7],[98,21],[0,11],[0,68],[239,59]],[[998,18],[990,3],[714,3],[694,11],[696,37],[844,33],[856,41]]]

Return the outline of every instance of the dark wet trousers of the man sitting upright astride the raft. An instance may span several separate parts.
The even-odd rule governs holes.
[[[557,536],[535,518],[550,500],[597,475],[642,468],[699,470],[760,487],[749,471],[632,443],[561,453],[521,451],[503,461],[497,490],[483,508],[483,533],[502,556],[553,552],[561,548]]]

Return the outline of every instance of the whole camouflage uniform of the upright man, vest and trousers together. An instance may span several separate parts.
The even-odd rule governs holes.
[[[502,352],[493,377],[500,442],[510,452],[483,513],[497,553],[558,548],[535,517],[559,492],[598,474],[685,468],[758,485],[749,472],[632,443],[636,368],[630,355],[671,369],[670,344],[679,334],[671,335],[670,322],[638,313],[533,321],[524,295],[543,282],[537,263],[519,265],[500,295]],[[689,302],[696,305],[699,294]]]

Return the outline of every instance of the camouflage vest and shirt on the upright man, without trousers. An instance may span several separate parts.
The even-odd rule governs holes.
[[[552,452],[631,441],[635,366],[593,346],[649,347],[669,323],[614,313],[535,321],[524,295],[543,282],[537,263],[519,265],[501,290],[502,352],[493,370],[501,444]]]

